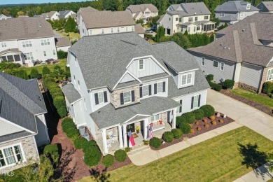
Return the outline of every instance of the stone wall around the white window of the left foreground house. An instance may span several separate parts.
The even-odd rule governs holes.
[[[38,153],[36,149],[36,142],[34,140],[34,136],[31,137],[25,137],[23,139],[18,139],[15,141],[10,141],[5,144],[0,144],[0,148],[5,148],[5,146],[12,146],[15,144],[22,144],[22,151],[24,151],[25,154],[25,160],[28,160],[29,158],[32,158],[33,160],[38,159]],[[3,169],[0,169],[0,172],[10,172],[15,169],[18,169],[20,167],[23,167],[23,164],[20,165],[14,165],[11,167],[5,167]]]

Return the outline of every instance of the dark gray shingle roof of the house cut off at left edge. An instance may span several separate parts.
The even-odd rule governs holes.
[[[1,118],[37,132],[34,115],[47,111],[36,79],[23,80],[0,72],[0,100]]]

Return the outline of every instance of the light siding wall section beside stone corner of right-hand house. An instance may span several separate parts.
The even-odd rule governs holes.
[[[240,73],[239,82],[258,88],[261,75],[262,75],[262,66],[257,66],[254,64],[248,64],[243,62],[241,64],[241,73]]]

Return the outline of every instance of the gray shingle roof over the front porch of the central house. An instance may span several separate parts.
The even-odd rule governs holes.
[[[180,104],[167,97],[150,97],[141,99],[141,103],[115,109],[112,104],[107,104],[101,109],[90,114],[99,129],[125,123],[137,114],[151,116],[154,113],[174,109]]]

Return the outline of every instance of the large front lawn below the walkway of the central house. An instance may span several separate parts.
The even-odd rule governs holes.
[[[116,169],[109,181],[233,181],[252,170],[241,165],[238,143],[257,143],[260,151],[273,152],[272,141],[240,127],[147,165]]]

